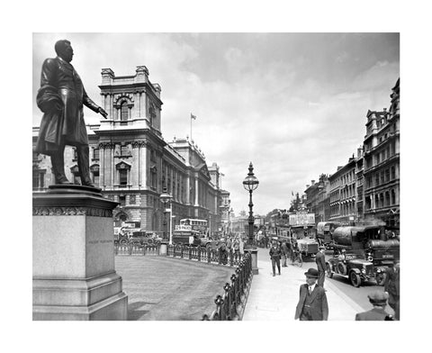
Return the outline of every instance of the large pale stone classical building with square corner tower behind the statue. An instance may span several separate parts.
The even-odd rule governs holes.
[[[161,132],[161,88],[148,80],[148,68],[116,77],[102,69],[103,109],[100,124],[87,125],[90,170],[94,183],[107,198],[120,203],[114,222],[137,222],[146,231],[163,233],[166,205],[160,195],[172,195],[173,223],[183,218],[207,220],[211,231],[220,228],[220,168],[207,167],[202,150],[188,139],[166,142]],[[33,128],[33,147],[39,128]],[[65,172],[79,183],[75,149],[67,146]],[[33,153],[33,191],[52,184],[50,159]]]

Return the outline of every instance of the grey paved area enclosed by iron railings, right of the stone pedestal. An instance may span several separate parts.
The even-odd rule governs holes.
[[[199,321],[215,309],[233,267],[186,259],[116,256],[115,269],[128,295],[128,320]]]

